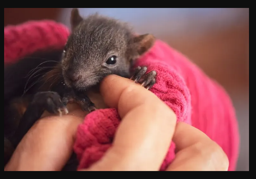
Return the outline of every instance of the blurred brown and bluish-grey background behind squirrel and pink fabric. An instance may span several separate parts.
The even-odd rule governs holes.
[[[153,33],[230,94],[241,135],[237,171],[249,171],[249,8],[79,8],[130,22]],[[4,8],[4,26],[53,19],[69,26],[71,8]]]

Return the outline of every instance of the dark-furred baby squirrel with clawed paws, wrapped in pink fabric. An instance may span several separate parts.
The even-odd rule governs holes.
[[[105,76],[130,78],[146,89],[156,83],[156,71],[132,70],[153,46],[153,35],[136,35],[128,24],[99,14],[82,18],[77,8],[70,23],[63,49],[39,51],[4,67],[4,166],[44,111],[67,114],[70,101],[84,111],[96,110],[87,91],[98,89]]]

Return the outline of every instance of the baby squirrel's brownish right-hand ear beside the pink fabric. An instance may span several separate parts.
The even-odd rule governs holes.
[[[156,38],[152,34],[137,35],[134,37],[133,42],[137,47],[139,55],[147,52],[155,43]]]

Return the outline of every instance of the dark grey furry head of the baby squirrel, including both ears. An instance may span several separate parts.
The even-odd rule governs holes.
[[[78,90],[96,85],[106,75],[130,77],[132,62],[148,51],[155,40],[150,34],[135,35],[128,24],[116,19],[99,14],[82,18],[76,8],[70,22],[72,33],[63,52],[62,71],[66,84]],[[117,63],[107,65],[112,55],[117,56]],[[80,79],[69,81],[67,71]]]

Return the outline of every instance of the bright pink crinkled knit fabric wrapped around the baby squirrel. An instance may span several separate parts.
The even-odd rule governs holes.
[[[4,63],[45,47],[62,47],[69,29],[53,21],[30,21],[4,28]],[[235,170],[239,135],[235,112],[223,88],[205,75],[184,55],[157,40],[135,66],[146,65],[157,71],[157,83],[151,91],[176,113],[178,121],[205,132],[228,155],[229,171]],[[89,167],[111,146],[120,118],[115,109],[91,112],[78,127],[74,150],[79,167]],[[170,141],[171,143],[172,141]],[[160,170],[175,157],[172,143]]]

